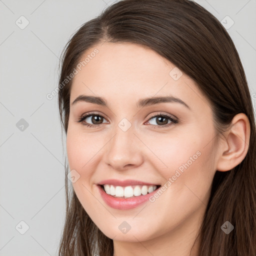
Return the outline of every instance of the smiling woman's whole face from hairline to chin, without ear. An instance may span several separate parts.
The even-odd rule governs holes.
[[[116,240],[194,230],[216,170],[208,100],[150,48],[105,42],[81,60],[88,54],[73,78],[66,138],[73,189],[85,211]],[[109,184],[110,194],[99,184]]]

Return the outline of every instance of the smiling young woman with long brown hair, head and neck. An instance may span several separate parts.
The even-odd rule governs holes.
[[[112,4],[67,43],[58,103],[68,159],[59,255],[256,255],[253,107],[208,11]]]

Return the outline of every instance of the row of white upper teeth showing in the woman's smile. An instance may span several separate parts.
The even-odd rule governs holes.
[[[104,190],[107,194],[115,197],[133,197],[138,195],[145,195],[151,193],[156,189],[156,185],[132,185],[132,186],[113,186],[109,184],[104,185]]]

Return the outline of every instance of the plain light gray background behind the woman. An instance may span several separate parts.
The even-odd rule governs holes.
[[[112,2],[0,0],[0,255],[56,255],[65,209],[65,144],[57,96],[48,100],[46,94],[57,86],[68,38]],[[220,21],[227,15],[234,21],[227,31],[255,108],[256,0],[196,2]],[[29,22],[24,29],[21,15]]]

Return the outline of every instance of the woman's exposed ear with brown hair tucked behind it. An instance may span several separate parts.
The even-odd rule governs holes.
[[[245,157],[249,146],[250,124],[244,113],[236,114],[224,132],[225,139],[220,144],[218,171],[227,171],[238,165]]]

